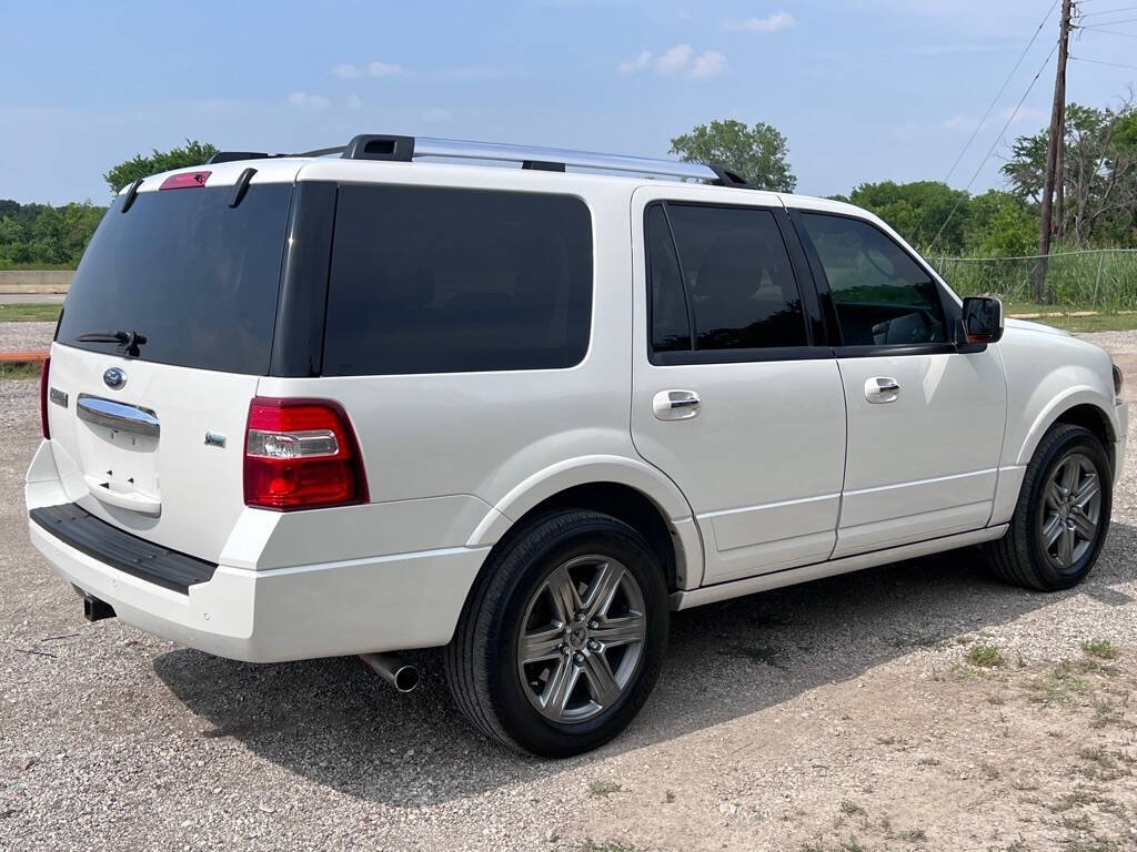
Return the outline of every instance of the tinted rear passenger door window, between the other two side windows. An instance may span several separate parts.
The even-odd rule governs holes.
[[[662,206],[656,209],[662,214]],[[674,254],[664,248],[667,220],[678,270]],[[647,228],[656,351],[686,349],[690,339],[690,333],[675,331],[687,309],[674,295],[672,278],[678,275],[688,291],[694,349],[806,345],[802,300],[769,210],[669,203],[666,217],[649,211]]]

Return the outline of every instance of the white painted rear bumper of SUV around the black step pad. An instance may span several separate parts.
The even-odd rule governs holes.
[[[34,521],[28,531],[57,575],[124,621],[249,662],[443,645],[488,552],[453,548],[262,571],[219,565],[183,594],[101,562]]]

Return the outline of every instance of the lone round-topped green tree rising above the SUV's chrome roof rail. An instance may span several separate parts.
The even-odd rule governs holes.
[[[686,162],[724,166],[761,190],[792,192],[797,186],[786,137],[763,122],[754,127],[733,119],[700,124],[671,140],[671,152]]]

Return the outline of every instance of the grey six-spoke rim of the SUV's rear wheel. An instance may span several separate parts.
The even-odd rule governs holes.
[[[525,605],[517,669],[530,703],[557,722],[612,707],[632,682],[647,637],[644,592],[600,554],[557,566]]]

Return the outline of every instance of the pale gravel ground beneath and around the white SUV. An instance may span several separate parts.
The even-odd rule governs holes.
[[[474,734],[431,653],[400,696],[88,625],[27,543],[38,433],[35,382],[0,381],[0,850],[1137,847],[1132,434],[1079,588],[962,551],[678,613],[628,733],[542,762]]]

